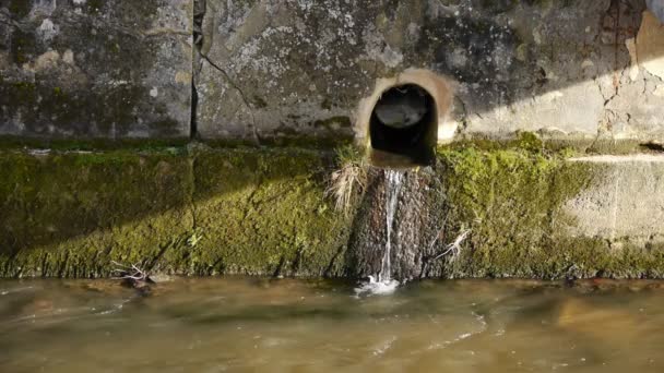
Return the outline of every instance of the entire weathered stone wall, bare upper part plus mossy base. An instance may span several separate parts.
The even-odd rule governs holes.
[[[371,106],[405,82],[438,100],[438,141],[452,143],[408,171],[443,198],[416,231],[449,225],[439,246],[420,245],[472,231],[464,256],[427,275],[664,277],[661,10],[0,0],[0,277],[108,275],[110,261],[366,275],[353,242],[371,242],[360,224],[382,219],[361,218],[369,197],[355,221],[334,210],[343,163],[325,148],[235,145],[366,144]],[[164,146],[191,139],[208,144]]]

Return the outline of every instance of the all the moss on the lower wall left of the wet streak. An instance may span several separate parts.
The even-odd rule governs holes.
[[[309,151],[0,153],[0,276],[340,275],[345,218]]]

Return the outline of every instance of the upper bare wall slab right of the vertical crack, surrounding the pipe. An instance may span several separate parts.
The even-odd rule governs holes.
[[[349,136],[377,80],[420,68],[454,82],[461,134],[664,140],[642,0],[205,3],[203,137]]]

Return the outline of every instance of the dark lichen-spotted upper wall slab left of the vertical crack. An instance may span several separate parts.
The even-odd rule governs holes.
[[[0,0],[0,134],[188,136],[190,0]]]

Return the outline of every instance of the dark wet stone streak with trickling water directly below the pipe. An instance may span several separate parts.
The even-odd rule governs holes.
[[[431,169],[369,169],[348,250],[353,275],[369,280],[356,289],[359,296],[391,293],[423,275],[425,258],[439,250],[431,245],[443,210],[438,180]],[[440,275],[436,270],[426,276]]]

